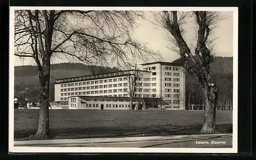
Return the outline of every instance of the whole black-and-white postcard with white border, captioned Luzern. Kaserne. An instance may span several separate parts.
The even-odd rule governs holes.
[[[10,153],[237,153],[238,8],[10,7]]]

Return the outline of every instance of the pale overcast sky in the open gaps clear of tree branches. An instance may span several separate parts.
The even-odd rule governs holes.
[[[223,12],[225,16],[225,20],[219,23],[219,27],[214,30],[214,34],[211,35],[211,38],[216,39],[216,52],[217,56],[222,57],[232,57],[233,55],[233,16],[232,12]],[[148,47],[153,50],[159,50],[162,54],[163,61],[172,62],[179,58],[179,55],[173,51],[170,51],[166,48],[167,37],[166,31],[160,30],[156,25],[146,21],[141,20],[138,21],[140,24],[139,28],[137,28],[134,32],[134,38],[139,40],[142,43],[148,43]],[[195,36],[195,31],[191,29],[190,24],[186,27],[186,41],[190,41],[191,38]],[[188,42],[187,42],[188,43]],[[15,66],[20,65],[35,65],[35,62],[31,58],[27,58],[24,60],[20,60],[15,57]],[[52,63],[62,63],[69,62],[69,60],[65,59],[52,59]],[[73,61],[74,62],[74,61]],[[79,62],[79,61],[75,61]]]

